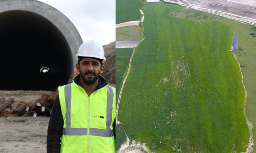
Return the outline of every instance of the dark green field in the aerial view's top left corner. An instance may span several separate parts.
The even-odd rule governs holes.
[[[116,0],[116,24],[140,20],[140,0]]]

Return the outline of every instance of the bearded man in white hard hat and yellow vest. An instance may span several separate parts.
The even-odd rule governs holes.
[[[103,47],[94,40],[85,42],[76,59],[80,74],[59,87],[53,104],[47,152],[114,153],[116,89],[99,75],[105,68]]]

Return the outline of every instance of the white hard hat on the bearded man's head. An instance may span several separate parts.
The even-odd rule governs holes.
[[[89,40],[88,42],[84,42],[79,47],[78,53],[76,54],[77,60],[78,56],[99,58],[103,60],[102,62],[106,61],[103,47],[95,40]]]

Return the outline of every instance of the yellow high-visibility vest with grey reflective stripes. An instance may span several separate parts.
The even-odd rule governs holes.
[[[63,133],[61,153],[115,153],[116,89],[105,86],[90,97],[70,83],[59,87]]]

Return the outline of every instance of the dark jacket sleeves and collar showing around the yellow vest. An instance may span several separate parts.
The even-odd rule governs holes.
[[[82,83],[80,81],[80,74],[75,76],[73,81],[82,87]],[[96,87],[95,91],[101,89],[108,85],[108,81],[102,76],[99,76],[99,83]],[[114,120],[114,137],[116,139],[116,119]],[[60,107],[60,99],[59,94],[57,95],[52,108],[52,113],[50,115],[50,121],[48,126],[48,134],[47,134],[47,152],[48,153],[59,153],[60,152],[60,138],[62,136],[63,130],[63,117],[61,114],[61,107]]]

